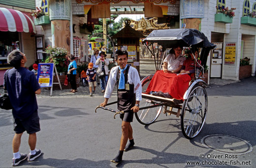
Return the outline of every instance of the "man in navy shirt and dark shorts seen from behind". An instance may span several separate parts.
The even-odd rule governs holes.
[[[17,49],[13,50],[8,55],[7,62],[14,67],[5,72],[3,85],[7,89],[13,107],[15,135],[12,140],[12,166],[17,166],[27,158],[28,161],[33,161],[41,155],[41,150],[35,148],[36,132],[40,131],[35,94],[39,95],[41,89],[34,73],[25,68],[27,58],[24,53]],[[24,131],[29,134],[29,155],[19,152]]]

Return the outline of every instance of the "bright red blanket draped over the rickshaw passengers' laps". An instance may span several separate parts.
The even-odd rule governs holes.
[[[188,74],[177,75],[157,71],[150,81],[146,93],[162,91],[163,93],[169,93],[173,98],[184,100],[183,96],[189,87],[190,81],[191,77]]]

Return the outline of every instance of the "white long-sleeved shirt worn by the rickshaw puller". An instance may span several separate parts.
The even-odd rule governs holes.
[[[109,73],[107,87],[104,95],[105,98],[111,97],[115,84],[117,83],[117,79],[116,79],[117,73],[119,73],[119,66],[112,68]],[[128,83],[134,85],[134,93],[136,94],[136,101],[140,101],[142,99],[141,97],[142,87],[140,83],[139,73],[133,67],[130,67],[128,71]]]

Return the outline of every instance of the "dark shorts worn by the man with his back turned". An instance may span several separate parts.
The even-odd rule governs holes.
[[[13,126],[16,134],[21,134],[24,131],[27,131],[28,134],[33,134],[40,131],[37,110],[27,119],[13,119]]]

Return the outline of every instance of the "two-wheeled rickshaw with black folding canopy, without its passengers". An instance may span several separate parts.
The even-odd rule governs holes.
[[[187,48],[200,48],[200,61],[194,59],[194,78],[190,81],[183,99],[177,100],[175,98],[165,98],[144,93],[154,76],[154,74],[150,74],[141,80],[142,101],[140,101],[139,112],[135,113],[136,119],[144,125],[155,122],[161,112],[166,115],[174,114],[176,117],[181,118],[183,135],[188,139],[194,138],[201,131],[207,116],[208,97],[205,88],[208,85],[202,78],[208,54],[212,48],[215,48],[215,45],[210,43],[202,32],[187,28],[153,30],[142,43],[147,46],[154,56],[156,71],[162,68],[161,65],[167,55],[165,54],[167,48],[173,48],[175,45]],[[150,46],[153,48],[153,45],[157,45],[158,48],[161,46],[162,51],[158,50],[155,52],[154,49],[150,48]],[[98,106],[97,108],[103,107]],[[116,112],[116,114],[122,113],[108,108],[103,109]]]

